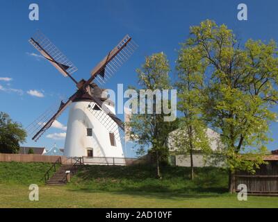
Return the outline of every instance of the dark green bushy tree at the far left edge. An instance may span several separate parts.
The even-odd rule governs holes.
[[[26,132],[20,123],[0,112],[0,153],[18,153],[19,143],[24,142]]]

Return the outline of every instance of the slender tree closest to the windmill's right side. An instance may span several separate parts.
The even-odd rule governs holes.
[[[156,53],[145,58],[145,64],[141,69],[136,70],[139,78],[139,85],[142,89],[150,89],[152,92],[161,92],[162,89],[170,89],[169,71],[170,67],[165,54]],[[158,89],[158,91],[156,91]],[[139,91],[139,90],[138,90]],[[158,112],[156,106],[163,105],[163,100],[156,95],[140,103],[145,103],[145,113],[133,114],[128,123],[130,138],[140,146],[139,151],[149,148],[149,153],[156,161],[158,178],[161,178],[161,161],[167,160],[169,150],[167,148],[167,136],[174,130],[174,122],[165,121],[163,110]],[[149,112],[148,103],[151,103],[152,112]],[[134,136],[136,135],[136,136]],[[139,152],[142,154],[142,152]]]

